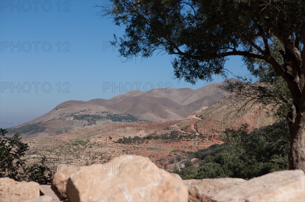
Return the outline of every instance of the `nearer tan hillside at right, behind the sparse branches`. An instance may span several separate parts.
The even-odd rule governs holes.
[[[196,130],[200,135],[218,139],[227,128],[247,126],[248,132],[251,132],[255,128],[275,123],[275,109],[272,105],[265,106],[232,93],[214,105],[198,110],[178,126],[187,132]]]

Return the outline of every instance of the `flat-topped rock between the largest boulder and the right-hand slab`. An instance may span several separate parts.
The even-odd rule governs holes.
[[[239,178],[184,180],[189,189],[189,201],[211,201],[219,191],[243,182],[246,180]]]

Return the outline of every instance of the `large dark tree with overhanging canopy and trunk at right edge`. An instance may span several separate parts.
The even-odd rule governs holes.
[[[289,88],[292,104],[289,168],[305,171],[305,1],[303,0],[112,0],[111,15],[125,25],[115,36],[123,57],[150,57],[157,50],[175,55],[175,76],[196,83],[226,75],[228,56],[242,56],[249,68],[269,64]],[[273,42],[282,57],[270,51]],[[264,69],[259,69],[263,71]]]

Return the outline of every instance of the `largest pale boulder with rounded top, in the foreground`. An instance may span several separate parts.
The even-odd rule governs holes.
[[[73,173],[69,201],[187,201],[182,180],[159,169],[147,157],[122,155]]]

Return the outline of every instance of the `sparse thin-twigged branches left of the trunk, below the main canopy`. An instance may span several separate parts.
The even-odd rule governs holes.
[[[274,40],[269,46],[270,54],[276,59],[278,63],[283,63],[283,58],[278,50],[283,49],[283,46],[278,40]],[[291,93],[288,89],[287,83],[283,77],[277,75],[273,67],[264,60],[256,59],[255,66],[250,63],[248,69],[252,76],[237,76],[242,82],[230,82],[227,80],[224,90],[234,92],[240,96],[241,99],[246,100],[241,107],[246,109],[248,105],[252,106],[259,102],[264,105],[273,106],[276,110],[276,115],[281,120],[287,116],[292,105]]]

